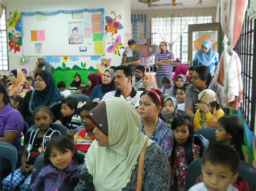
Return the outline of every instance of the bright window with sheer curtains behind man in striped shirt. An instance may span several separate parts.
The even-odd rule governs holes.
[[[177,17],[177,19],[175,20],[174,26],[170,26],[170,27],[176,27],[180,23],[184,25],[186,24],[187,19],[189,19],[187,25],[212,23],[213,15],[207,14],[207,15],[201,15],[201,16],[190,16],[190,17],[180,16],[180,17]],[[166,24],[166,23],[163,20],[163,23],[161,24]],[[188,26],[187,25],[181,37],[177,40],[177,42],[172,47],[174,60],[175,58],[180,58],[184,63],[187,62],[187,51],[188,51]],[[178,32],[175,33],[174,31],[174,35],[175,34],[178,36]],[[160,41],[165,41],[165,40],[160,38],[159,34],[157,33],[156,27],[151,22],[151,44],[159,45]]]

